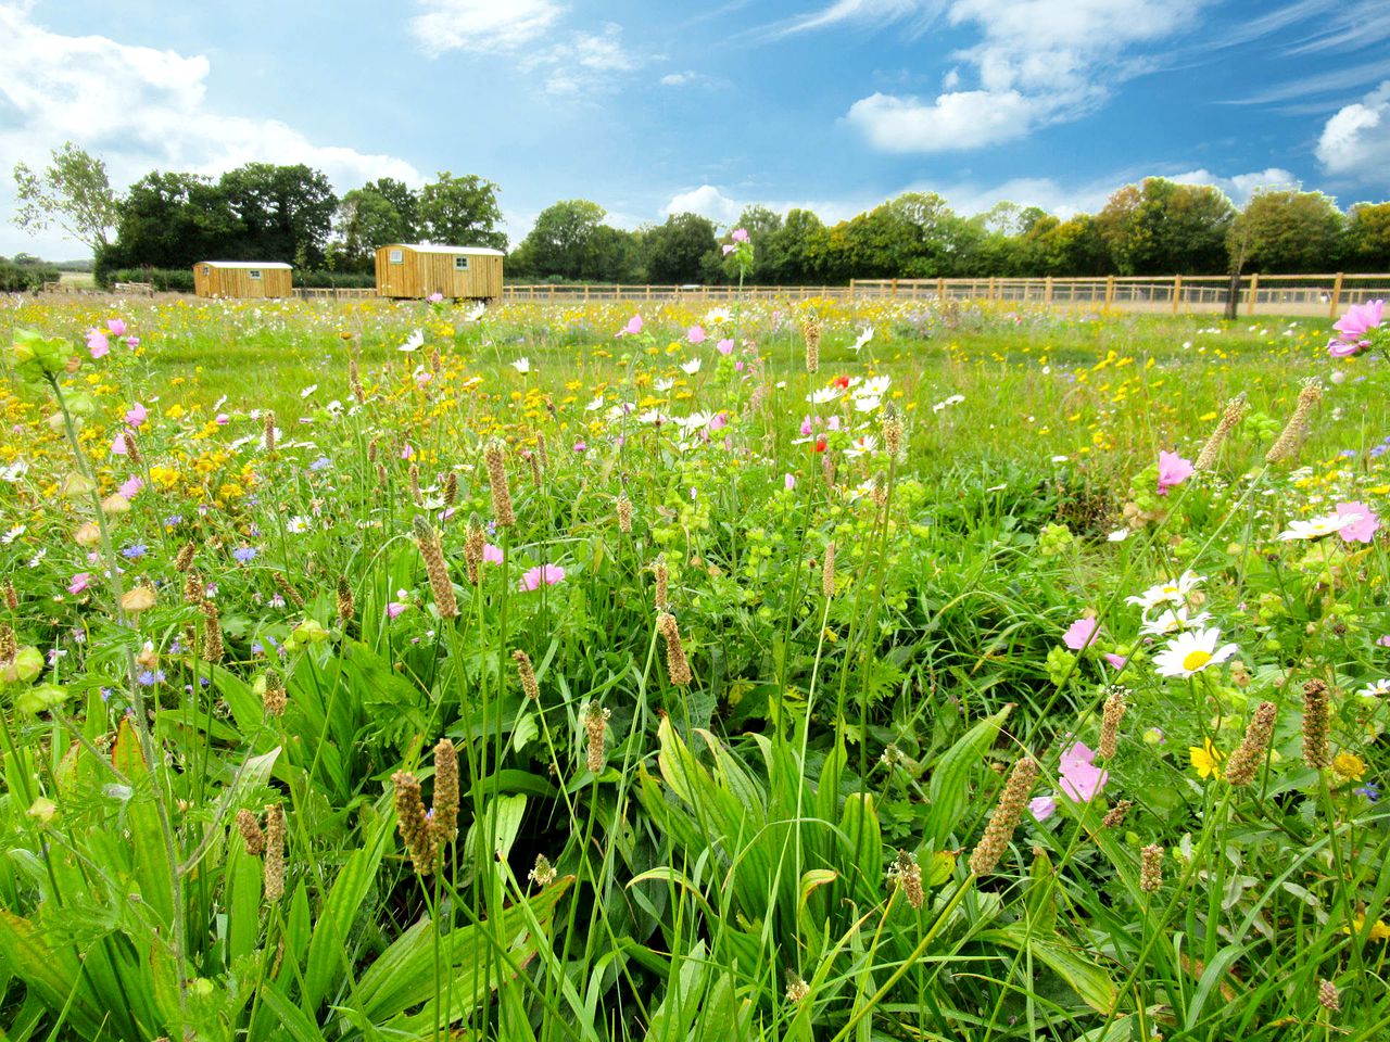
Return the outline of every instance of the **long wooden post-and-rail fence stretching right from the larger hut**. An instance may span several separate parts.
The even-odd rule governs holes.
[[[1386,275],[1112,275],[1101,278],[852,279],[848,286],[745,286],[744,299],[988,300],[1045,307],[1172,314],[1225,311],[1234,293],[1240,314],[1336,315],[1348,304],[1390,297]],[[731,301],[737,286],[506,285],[509,303],[603,300]]]

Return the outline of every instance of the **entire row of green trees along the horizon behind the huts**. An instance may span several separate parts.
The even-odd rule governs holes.
[[[153,171],[113,190],[100,158],[68,143],[46,169],[14,169],[15,224],[51,224],[86,242],[103,271],[189,268],[200,260],[286,261],[366,275],[374,249],[431,240],[507,249],[496,183],[441,172],[411,188],[379,178],[335,195],[307,165],[250,163],[208,178]],[[1390,270],[1390,203],[1343,213],[1320,192],[1268,189],[1237,208],[1219,189],[1165,178],[1118,189],[1095,214],[1062,220],[1001,201],[955,213],[908,192],[827,225],[813,211],[749,206],[728,228],[691,213],[637,229],[602,206],[562,200],[507,256],[512,281],[714,283],[737,278],[723,246],[734,228],[755,243],[756,285],[851,278],[1216,275]]]

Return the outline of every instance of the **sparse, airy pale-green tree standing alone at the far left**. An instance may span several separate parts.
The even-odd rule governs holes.
[[[108,243],[107,233],[115,226],[118,215],[118,196],[111,189],[106,163],[72,142],[54,149],[50,157],[47,169],[42,172],[35,172],[25,163],[14,164],[19,201],[14,224],[29,235],[57,224],[96,254]]]

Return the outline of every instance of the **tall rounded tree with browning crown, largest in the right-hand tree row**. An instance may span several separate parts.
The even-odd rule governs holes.
[[[1211,185],[1145,178],[1115,192],[1095,220],[1120,274],[1197,275],[1226,270],[1234,215]]]

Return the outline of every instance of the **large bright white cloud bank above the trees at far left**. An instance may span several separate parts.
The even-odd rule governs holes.
[[[81,253],[56,236],[29,240],[10,225],[15,163],[43,167],[71,140],[107,163],[125,185],[153,168],[217,175],[250,161],[306,163],[338,189],[378,176],[420,183],[407,161],[318,144],[278,119],[218,113],[207,103],[211,71],[185,57],[103,36],[63,36],[36,25],[26,7],[0,4],[0,253]]]

